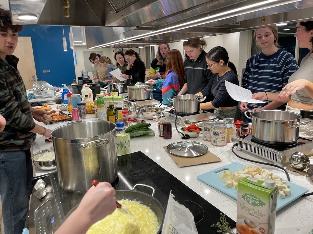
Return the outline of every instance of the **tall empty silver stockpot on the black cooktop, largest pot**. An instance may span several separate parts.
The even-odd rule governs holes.
[[[112,183],[117,178],[115,128],[106,121],[77,121],[51,132],[62,188],[84,192],[94,179]]]

